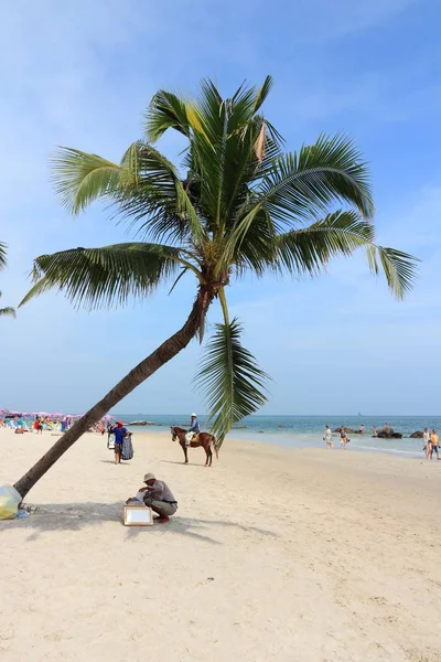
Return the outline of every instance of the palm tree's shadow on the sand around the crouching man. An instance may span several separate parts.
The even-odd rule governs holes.
[[[51,531],[80,531],[87,526],[103,526],[107,522],[122,524],[123,502],[116,503],[44,503],[40,511],[24,520],[8,520],[0,522],[0,533],[11,528],[24,528],[30,535],[26,542],[32,542],[40,534]],[[234,528],[239,532],[250,533],[257,537],[278,537],[272,531],[247,526],[238,522],[224,520],[202,520],[198,517],[182,517],[175,515],[168,524],[153,526],[128,526],[127,540],[137,538],[139,535],[185,535],[213,545],[222,545],[209,533],[218,533],[223,537],[223,530]]]

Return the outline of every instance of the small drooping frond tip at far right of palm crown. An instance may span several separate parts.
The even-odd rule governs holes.
[[[395,248],[385,248],[384,246],[369,246],[367,258],[370,270],[378,276],[383,267],[390,291],[397,299],[404,299],[407,292],[412,289],[417,275],[417,258]]]

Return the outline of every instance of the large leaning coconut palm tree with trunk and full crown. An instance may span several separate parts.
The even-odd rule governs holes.
[[[204,81],[196,99],[160,90],[146,115],[144,138],[119,163],[61,148],[53,161],[62,203],[78,214],[98,199],[137,229],[140,241],[73,248],[34,260],[34,285],[22,305],[57,288],[88,309],[143,298],[165,281],[195,280],[183,325],[94,405],[15,488],[24,496],[50,467],[111,407],[198,337],[215,300],[223,323],[207,344],[198,384],[206,394],[218,445],[234,423],[265,402],[266,374],[240,343],[227,289],[248,273],[315,276],[330,259],[367,249],[370,269],[383,268],[392,292],[411,287],[413,259],[375,244],[374,203],[365,163],[352,140],[320,136],[284,152],[283,140],[261,107],[272,86],[241,86],[223,99]],[[186,140],[183,171],[154,143],[169,130]]]

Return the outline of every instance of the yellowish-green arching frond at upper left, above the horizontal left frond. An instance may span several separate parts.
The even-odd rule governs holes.
[[[57,195],[73,214],[104,197],[114,202],[120,217],[140,224],[140,231],[153,241],[197,242],[203,236],[201,220],[175,167],[141,140],[127,149],[119,164],[60,148],[52,173]]]

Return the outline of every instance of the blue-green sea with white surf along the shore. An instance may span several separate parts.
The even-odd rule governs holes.
[[[154,431],[170,434],[170,426],[184,427],[189,424],[189,415],[185,414],[115,414],[117,419],[122,419],[132,433]],[[153,425],[148,427],[131,427],[132,420],[148,420]],[[201,429],[209,429],[206,418],[198,417]],[[375,426],[378,430],[387,423],[396,433],[404,435],[402,439],[378,439],[372,437]],[[421,458],[422,439],[410,439],[410,435],[417,430],[422,431],[424,427],[441,429],[441,416],[263,416],[254,415],[244,418],[229,433],[230,438],[245,441],[265,441],[292,448],[323,448],[323,433],[326,425],[332,430],[344,425],[345,427],[359,429],[365,426],[365,434],[348,435],[351,442],[347,450],[375,451],[400,455],[409,458]],[[335,448],[340,447],[338,435],[335,433]],[[225,442],[227,442],[228,438]]]

